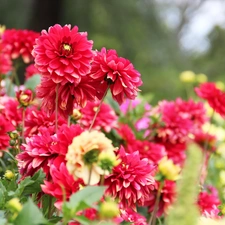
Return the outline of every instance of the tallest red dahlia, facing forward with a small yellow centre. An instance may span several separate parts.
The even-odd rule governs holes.
[[[90,72],[92,45],[87,33],[78,32],[77,26],[71,29],[71,25],[56,24],[41,32],[32,54],[40,73],[55,83],[79,84]]]

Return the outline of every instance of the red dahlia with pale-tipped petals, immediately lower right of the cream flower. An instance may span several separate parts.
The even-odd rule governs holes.
[[[123,207],[135,209],[136,204],[142,206],[154,190],[154,166],[149,164],[148,159],[141,160],[138,151],[127,154],[121,148],[119,156],[121,163],[105,180],[108,185],[106,193],[118,198]]]

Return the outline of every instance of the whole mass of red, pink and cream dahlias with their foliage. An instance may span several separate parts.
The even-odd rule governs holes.
[[[203,217],[221,219],[222,192],[206,181],[215,175],[211,166],[222,168],[224,188],[225,132],[206,130],[215,121],[205,104],[177,98],[154,106],[136,99],[142,80],[133,64],[116,50],[92,48],[77,26],[56,24],[41,34],[0,30],[0,210],[13,223],[32,194],[43,214],[62,224],[155,225],[177,200],[186,149],[194,142],[203,159],[194,171],[202,189],[193,203]],[[19,57],[29,65],[24,85],[16,86]],[[195,74],[180,78],[193,82]],[[195,91],[224,117],[222,90],[201,82]],[[222,161],[214,166],[216,157]]]

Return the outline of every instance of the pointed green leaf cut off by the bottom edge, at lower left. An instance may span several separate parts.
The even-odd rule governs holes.
[[[31,199],[24,204],[23,209],[20,211],[14,221],[14,225],[40,225],[48,224],[38,207]]]

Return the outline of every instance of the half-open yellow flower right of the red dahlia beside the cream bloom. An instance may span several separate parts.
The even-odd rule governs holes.
[[[175,165],[172,160],[164,157],[158,165],[158,170],[160,174],[166,180],[177,180],[179,178],[179,173],[181,168],[178,165]]]

